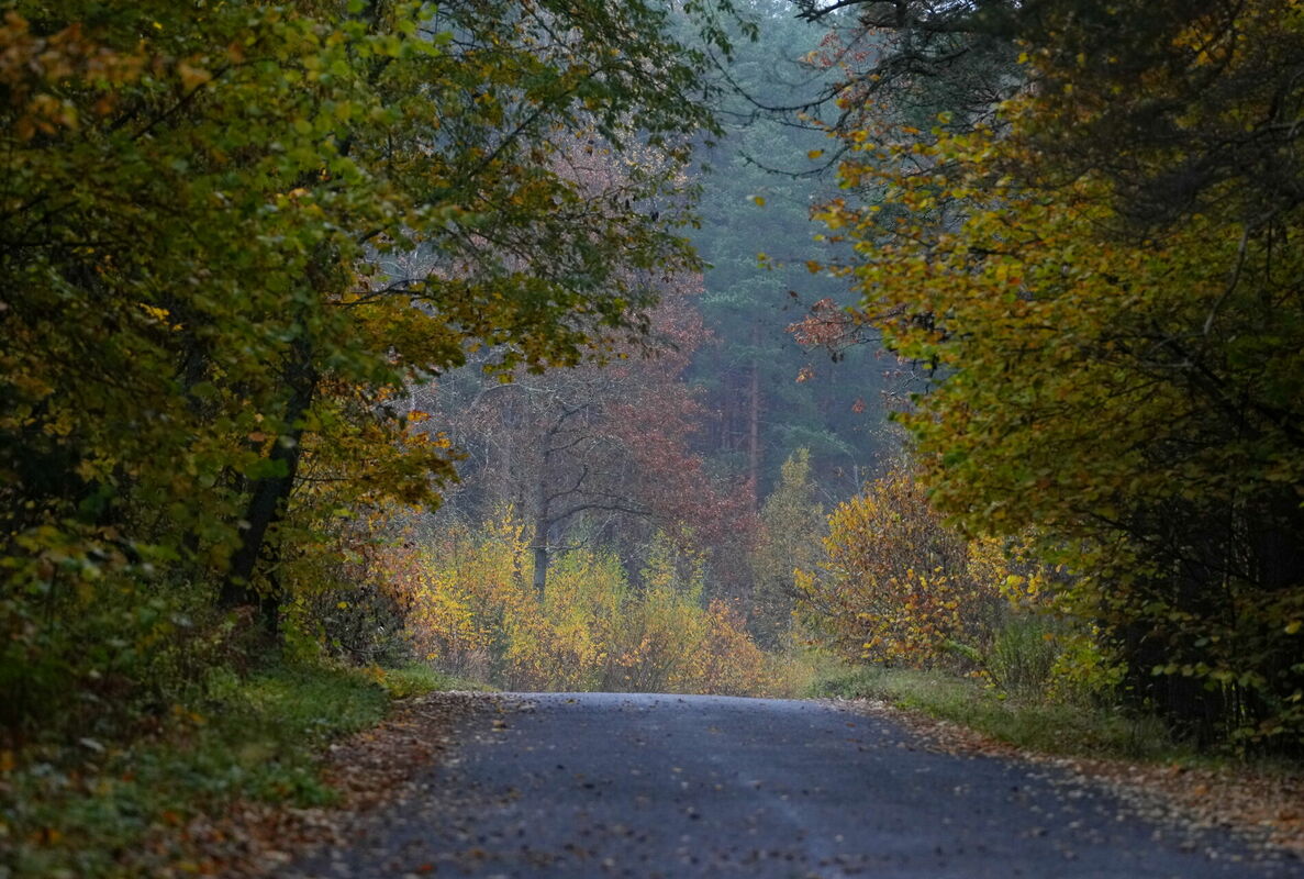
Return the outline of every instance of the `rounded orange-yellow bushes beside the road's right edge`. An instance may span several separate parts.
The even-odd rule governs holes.
[[[936,669],[1028,700],[1110,696],[1118,679],[1047,589],[1063,575],[1022,543],[966,539],[928,503],[910,466],[829,516],[825,561],[797,573],[816,639],[853,664]]]

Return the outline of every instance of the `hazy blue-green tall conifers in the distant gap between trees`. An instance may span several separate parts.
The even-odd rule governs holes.
[[[789,331],[801,304],[846,299],[837,280],[806,265],[812,193],[833,188],[812,176],[827,159],[807,155],[829,140],[808,120],[792,124],[762,110],[805,106],[823,93],[828,77],[805,60],[822,34],[797,21],[786,0],[747,5],[758,38],[725,65],[725,134],[705,156],[703,222],[691,231],[709,263],[700,308],[715,336],[691,372],[719,419],[702,443],[717,472],[754,477],[758,499],[780,484],[784,460],[801,447],[812,479],[845,497],[880,445],[867,428],[887,382],[872,351],[844,352],[846,363],[833,366],[827,352],[805,351]]]

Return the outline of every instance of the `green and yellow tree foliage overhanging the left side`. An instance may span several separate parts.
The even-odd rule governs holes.
[[[218,600],[353,649],[357,619],[303,618],[339,609],[342,520],[452,477],[408,387],[477,348],[575,364],[695,262],[705,56],[666,27],[643,1],[7,7],[7,724],[147,702],[177,629],[250,627]]]

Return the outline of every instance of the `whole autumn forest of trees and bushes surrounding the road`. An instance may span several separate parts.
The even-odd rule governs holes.
[[[0,10],[16,875],[419,686],[1300,755],[1297,0]],[[205,797],[326,796],[262,762]]]

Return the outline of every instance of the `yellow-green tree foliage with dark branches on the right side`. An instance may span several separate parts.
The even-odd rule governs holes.
[[[1277,0],[1005,12],[1033,87],[928,134],[857,116],[841,179],[868,198],[820,211],[862,318],[940,368],[905,419],[931,498],[1038,531],[1128,698],[1297,747],[1304,25]]]

